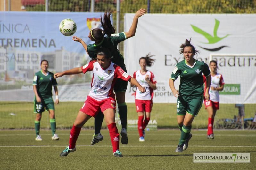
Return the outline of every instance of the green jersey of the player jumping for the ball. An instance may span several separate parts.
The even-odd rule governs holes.
[[[124,32],[118,34],[112,34],[111,37],[104,37],[99,44],[89,44],[87,46],[87,51],[90,58],[96,58],[97,52],[102,47],[108,48],[111,52],[111,61],[116,65],[120,66],[122,69],[122,65],[124,65],[124,57],[120,54],[117,49],[118,43],[126,40],[126,35]]]

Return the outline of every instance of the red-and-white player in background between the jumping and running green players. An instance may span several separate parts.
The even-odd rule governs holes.
[[[153,102],[152,98],[154,95],[154,90],[156,89],[156,80],[155,76],[152,72],[146,69],[146,66],[150,67],[155,59],[152,59],[154,55],[147,54],[146,57],[141,57],[139,59],[139,64],[141,69],[133,73],[133,78],[135,78],[142,87],[145,87],[146,92],[141,93],[138,88],[136,88],[135,92],[135,105],[136,110],[139,116],[138,121],[138,130],[139,130],[139,141],[144,142],[145,139],[145,127],[148,125],[150,120],[150,113],[152,110]],[[133,87],[133,84],[131,84]],[[145,120],[144,119],[145,113]]]

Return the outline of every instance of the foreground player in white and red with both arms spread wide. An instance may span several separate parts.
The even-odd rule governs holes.
[[[123,156],[122,153],[119,152],[119,133],[115,123],[116,100],[115,94],[113,93],[113,86],[117,78],[121,78],[136,85],[141,92],[145,92],[145,88],[142,87],[135,78],[129,76],[121,67],[112,63],[110,56],[110,51],[106,48],[102,48],[97,53],[97,61],[93,60],[85,66],[54,74],[54,78],[58,78],[64,75],[86,73],[87,71],[93,72],[92,89],[84,105],[78,112],[71,129],[69,146],[61,152],[60,156],[67,156],[70,152],[76,150],[76,141],[81,128],[91,117],[95,117],[100,109],[105,115],[111,137],[113,154],[115,157]]]

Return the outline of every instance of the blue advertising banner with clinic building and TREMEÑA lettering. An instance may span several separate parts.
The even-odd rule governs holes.
[[[100,27],[103,14],[0,12],[0,101],[34,101],[33,77],[41,70],[43,59],[48,60],[48,71],[53,73],[87,64],[89,56],[83,46],[72,36],[62,35],[59,25],[63,19],[72,19],[77,26],[74,35],[91,44],[89,32]],[[57,82],[60,101],[85,101],[91,74],[65,76]]]

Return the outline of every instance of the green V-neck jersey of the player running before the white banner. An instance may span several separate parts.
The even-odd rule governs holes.
[[[186,64],[186,60],[177,63],[171,79],[176,80],[180,76],[179,93],[198,96],[203,94],[203,75],[209,76],[210,70],[206,63],[195,60],[192,67]]]

